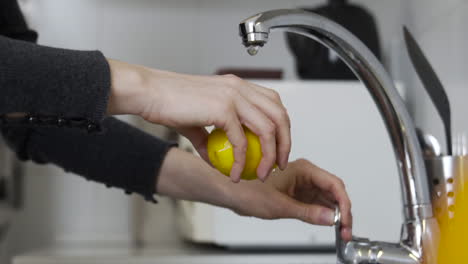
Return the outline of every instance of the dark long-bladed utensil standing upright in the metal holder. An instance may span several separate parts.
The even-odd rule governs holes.
[[[445,137],[447,139],[447,155],[452,155],[452,124],[450,120],[450,102],[448,96],[437,74],[414,37],[406,27],[403,27],[403,32],[411,63],[444,123]]]

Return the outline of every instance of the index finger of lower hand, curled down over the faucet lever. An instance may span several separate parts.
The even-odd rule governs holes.
[[[323,191],[328,191],[333,194],[334,199],[338,202],[341,212],[341,223],[343,227],[351,228],[351,201],[347,195],[343,181],[335,175],[307,162],[302,166],[303,172],[310,175],[314,184]]]

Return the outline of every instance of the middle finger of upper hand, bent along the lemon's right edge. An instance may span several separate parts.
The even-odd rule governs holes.
[[[260,139],[262,159],[257,168],[257,176],[265,181],[276,161],[276,133],[274,123],[258,108],[245,99],[236,101],[241,122]]]

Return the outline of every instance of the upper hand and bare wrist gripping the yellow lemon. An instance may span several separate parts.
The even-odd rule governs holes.
[[[277,92],[234,75],[195,76],[109,60],[109,114],[136,114],[175,128],[208,161],[206,126],[226,131],[234,146],[231,179],[245,164],[245,125],[260,138],[263,158],[257,175],[265,180],[274,164],[284,170],[291,150],[290,120]]]

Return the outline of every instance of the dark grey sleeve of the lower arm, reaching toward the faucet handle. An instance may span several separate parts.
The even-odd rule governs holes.
[[[54,163],[65,171],[154,201],[159,169],[174,144],[112,117],[105,118],[102,126],[103,133],[4,126],[3,135],[22,160]]]

